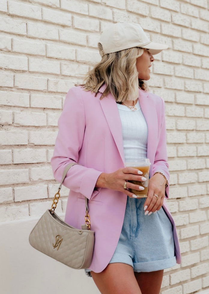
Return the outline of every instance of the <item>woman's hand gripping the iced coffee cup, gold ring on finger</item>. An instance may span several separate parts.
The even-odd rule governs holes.
[[[129,190],[123,188],[126,183],[127,188],[135,189],[135,190],[144,190],[144,187],[132,184],[126,181],[139,181],[144,182],[146,178],[144,178],[142,172],[138,169],[132,167],[124,167],[122,169],[118,169],[116,172],[105,173],[102,172],[98,177],[95,187],[98,188],[108,188],[114,191],[120,191],[129,197],[137,198],[136,195],[131,193]]]

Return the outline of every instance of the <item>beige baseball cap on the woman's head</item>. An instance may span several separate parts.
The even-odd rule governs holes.
[[[107,53],[117,52],[133,47],[149,49],[152,55],[167,49],[168,45],[151,42],[139,24],[116,23],[111,24],[102,32],[99,43],[103,50],[99,53],[101,57]]]

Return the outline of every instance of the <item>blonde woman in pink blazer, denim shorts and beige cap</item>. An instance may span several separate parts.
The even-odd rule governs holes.
[[[146,91],[153,55],[168,46],[148,40],[138,24],[106,29],[98,48],[102,57],[84,84],[71,88],[59,118],[51,159],[59,182],[70,188],[65,222],[80,228],[85,200],[95,231],[92,264],[86,274],[102,294],[160,292],[163,269],[180,263],[168,198],[165,107]],[[147,198],[129,180],[144,181],[125,162],[149,158]]]

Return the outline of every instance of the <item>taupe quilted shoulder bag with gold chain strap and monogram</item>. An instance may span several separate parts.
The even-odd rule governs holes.
[[[29,243],[35,249],[71,268],[83,269],[90,266],[94,248],[94,231],[90,230],[88,199],[85,197],[86,216],[85,225],[81,226],[82,229],[68,225],[54,212],[65,175],[75,164],[77,163],[70,163],[65,167],[52,207],[42,215],[32,229],[29,235]]]

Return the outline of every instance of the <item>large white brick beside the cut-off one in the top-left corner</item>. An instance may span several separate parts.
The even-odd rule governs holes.
[[[21,2],[8,1],[9,14],[41,19],[41,7]]]

